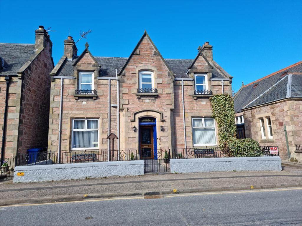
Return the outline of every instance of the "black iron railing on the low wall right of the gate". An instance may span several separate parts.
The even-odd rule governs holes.
[[[221,158],[221,157],[258,157],[258,156],[279,156],[271,154],[270,147],[249,147],[249,148],[180,148],[169,149],[172,159],[197,159],[197,158]]]

